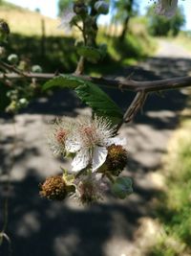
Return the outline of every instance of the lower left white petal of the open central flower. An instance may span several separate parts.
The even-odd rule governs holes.
[[[72,171],[78,172],[88,166],[90,162],[90,152],[88,150],[81,150],[74,156],[72,166]]]

